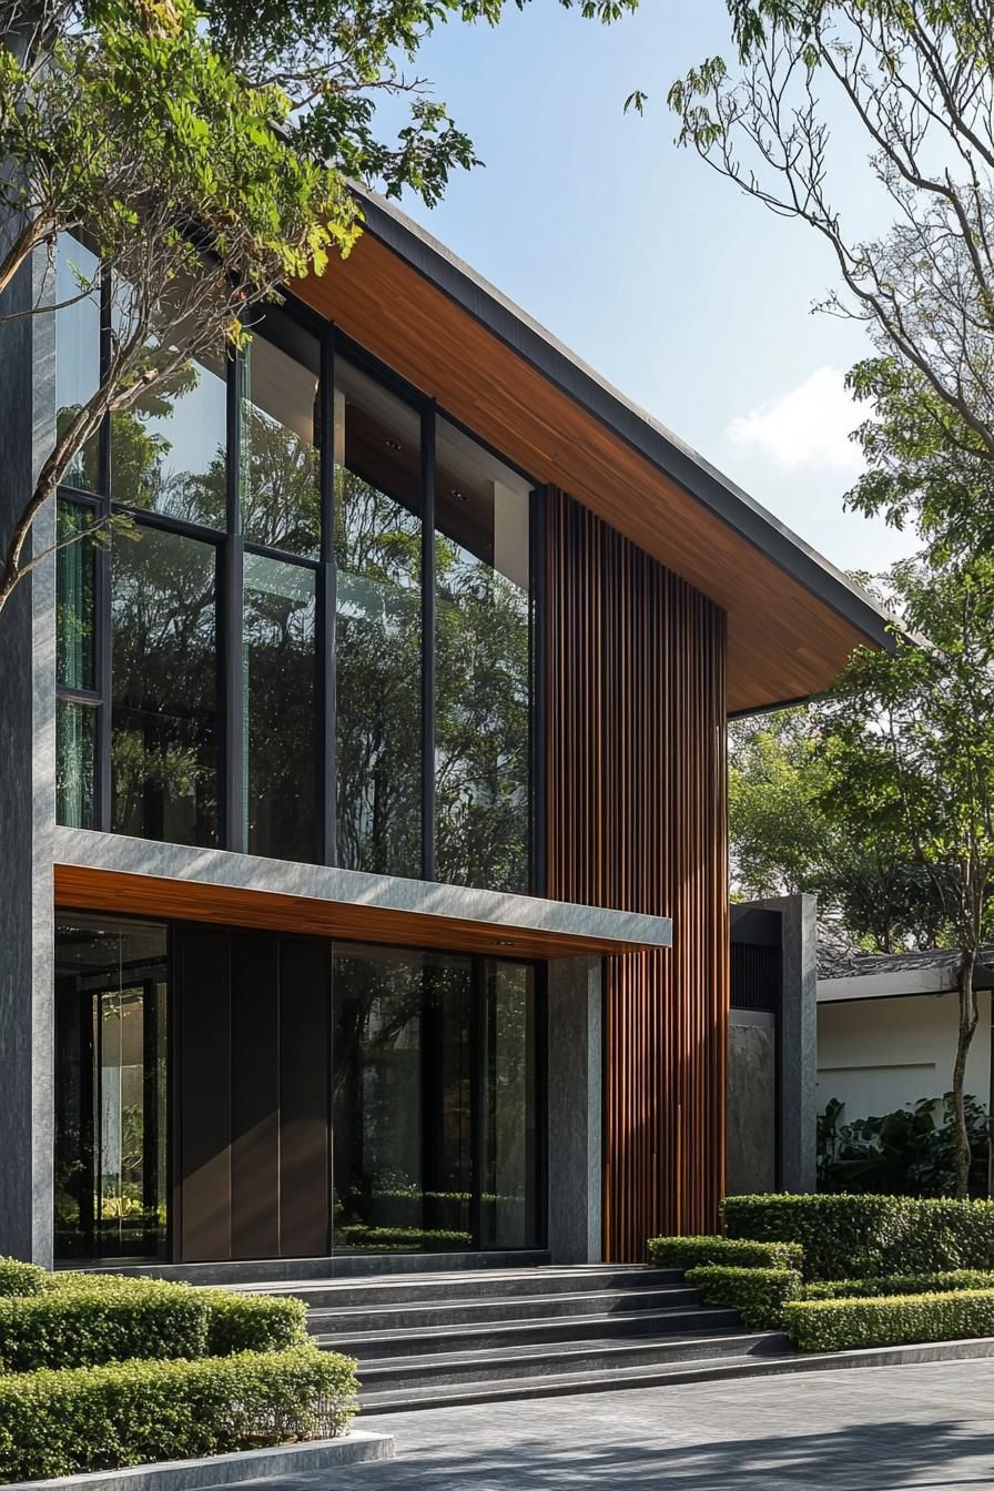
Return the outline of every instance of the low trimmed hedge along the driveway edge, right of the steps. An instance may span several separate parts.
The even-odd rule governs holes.
[[[994,1336],[994,1290],[864,1300],[791,1300],[784,1328],[799,1351],[909,1346]]]

